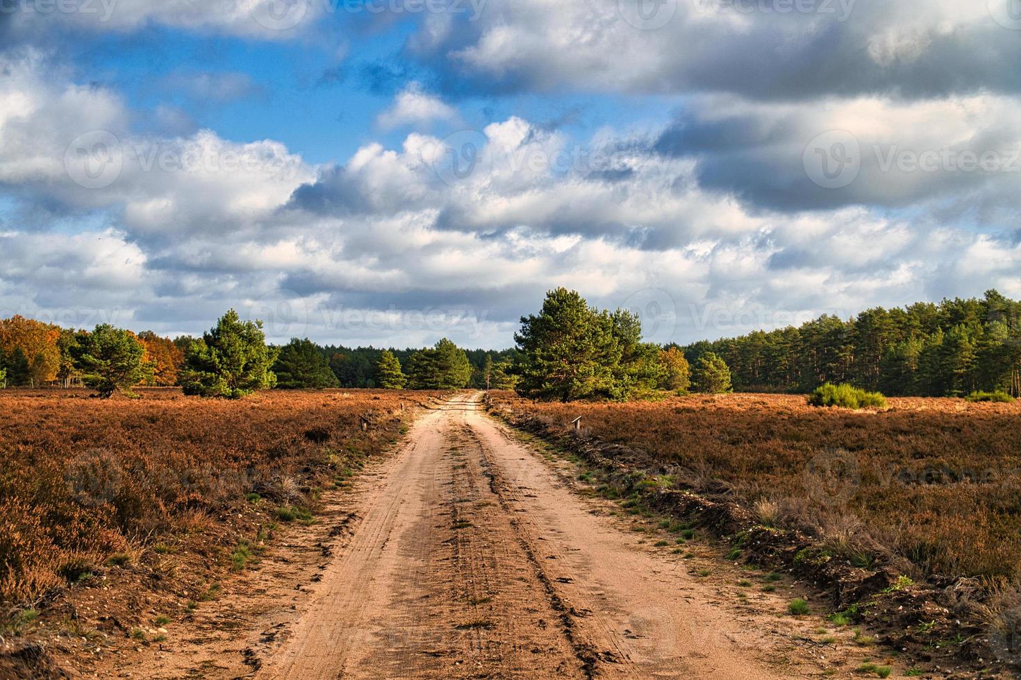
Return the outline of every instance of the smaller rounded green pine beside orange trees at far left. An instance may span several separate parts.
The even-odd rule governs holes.
[[[97,325],[91,333],[81,333],[72,352],[85,384],[103,399],[117,391],[132,395],[132,387],[152,371],[143,363],[145,346],[138,337],[108,323]]]

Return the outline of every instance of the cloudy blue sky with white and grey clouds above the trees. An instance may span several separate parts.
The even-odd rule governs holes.
[[[1021,298],[1021,0],[0,0],[0,318],[514,345]]]

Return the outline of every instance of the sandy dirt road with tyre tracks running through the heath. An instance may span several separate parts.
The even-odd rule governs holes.
[[[455,398],[363,482],[262,678],[780,677],[710,586]]]

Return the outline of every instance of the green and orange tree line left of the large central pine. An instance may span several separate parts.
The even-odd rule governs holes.
[[[271,387],[509,389],[516,378],[508,354],[466,351],[447,338],[418,350],[321,347],[297,337],[274,347],[261,321],[242,320],[234,310],[200,337],[174,339],[110,324],[87,331],[0,319],[0,387],[85,385],[103,397],[131,395],[137,385],[228,398]]]

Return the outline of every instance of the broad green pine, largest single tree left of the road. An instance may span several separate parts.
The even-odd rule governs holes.
[[[270,369],[277,351],[266,347],[261,321],[242,321],[233,309],[191,343],[181,386],[186,395],[238,399],[277,384]]]

